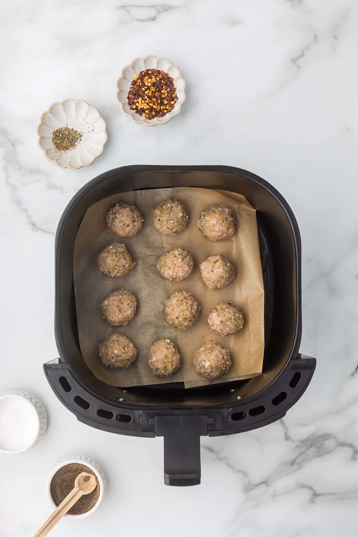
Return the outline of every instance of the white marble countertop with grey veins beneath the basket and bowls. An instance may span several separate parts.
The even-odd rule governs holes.
[[[41,526],[48,471],[71,454],[103,467],[107,497],[93,517],[62,520],[54,536],[357,534],[357,24],[353,0],[3,7],[0,393],[31,391],[49,426],[31,451],[0,454],[2,537]],[[154,129],[135,125],[115,100],[123,65],[147,54],[168,57],[187,84],[181,113]],[[107,121],[103,155],[77,171],[56,168],[36,146],[40,114],[67,97]],[[317,358],[316,373],[279,422],[202,438],[199,487],[164,486],[162,438],[77,422],[42,371],[57,357],[57,223],[87,181],[127,164],[250,170],[283,194],[301,230],[301,352]]]

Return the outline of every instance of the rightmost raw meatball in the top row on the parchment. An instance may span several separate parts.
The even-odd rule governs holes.
[[[230,207],[214,205],[201,213],[196,225],[210,241],[222,241],[235,233],[235,215]]]

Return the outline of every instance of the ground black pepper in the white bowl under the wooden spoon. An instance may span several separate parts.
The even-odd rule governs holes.
[[[56,506],[59,506],[64,498],[71,492],[75,486],[75,480],[78,474],[86,471],[87,473],[94,475],[97,481],[97,487],[90,492],[90,494],[85,494],[71,507],[68,511],[69,514],[83,514],[87,511],[90,511],[94,505],[96,505],[99,493],[100,485],[94,471],[85,465],[81,465],[77,462],[70,463],[69,465],[62,466],[59,470],[56,471],[56,474],[53,476],[50,484],[50,494],[52,499],[55,502]]]

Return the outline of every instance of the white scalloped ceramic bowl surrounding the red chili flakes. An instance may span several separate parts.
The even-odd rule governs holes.
[[[163,118],[147,119],[139,114],[136,114],[128,105],[128,92],[130,84],[134,77],[140,71],[145,69],[160,69],[173,77],[174,84],[177,86],[178,100],[174,105],[171,112],[164,115]],[[132,121],[138,125],[147,125],[148,127],[154,127],[155,125],[163,125],[167,123],[174,115],[179,114],[181,105],[185,101],[185,82],[181,78],[180,70],[178,67],[173,66],[166,58],[157,58],[157,56],[145,56],[144,58],[136,58],[128,66],[123,67],[121,76],[117,80],[117,93],[116,98],[121,105],[123,114],[128,115]]]

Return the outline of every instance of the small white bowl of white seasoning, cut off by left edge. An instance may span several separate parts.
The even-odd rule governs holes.
[[[7,391],[0,396],[0,452],[23,453],[35,446],[47,429],[41,401],[27,391]]]

